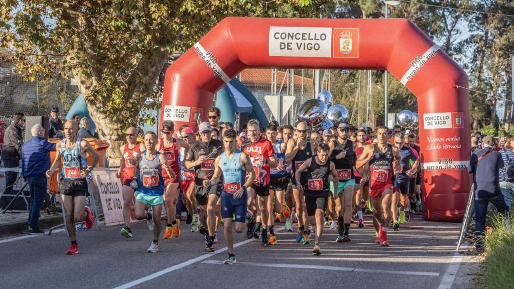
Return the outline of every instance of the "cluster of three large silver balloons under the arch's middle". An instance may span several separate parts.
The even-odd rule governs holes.
[[[332,105],[332,94],[321,91],[315,99],[300,105],[297,111],[299,121],[305,121],[316,129],[329,129],[341,122],[348,122],[348,110],[341,104]]]

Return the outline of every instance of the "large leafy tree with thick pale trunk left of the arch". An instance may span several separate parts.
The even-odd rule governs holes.
[[[100,138],[119,155],[171,53],[185,51],[226,16],[327,14],[333,1],[4,0],[0,46],[28,80],[60,67],[77,80]]]

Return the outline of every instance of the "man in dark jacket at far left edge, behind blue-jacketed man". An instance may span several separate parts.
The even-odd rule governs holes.
[[[22,155],[22,130],[25,125],[23,113],[15,113],[12,122],[5,130],[4,149],[2,150],[2,161],[5,168],[18,168]],[[4,194],[10,194],[18,176],[17,171],[6,172]]]

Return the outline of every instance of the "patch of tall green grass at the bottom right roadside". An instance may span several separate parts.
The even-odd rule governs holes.
[[[485,270],[482,286],[490,289],[514,287],[514,229],[505,228],[501,215],[491,218],[492,230],[485,239]],[[514,218],[511,216],[511,223]]]

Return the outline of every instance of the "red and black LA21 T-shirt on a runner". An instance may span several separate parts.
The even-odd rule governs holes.
[[[256,142],[251,142],[250,139],[245,140],[241,144],[241,148],[245,154],[250,157],[253,169],[255,170],[255,186],[269,185],[269,166],[259,161],[259,156],[263,156],[269,160],[269,157],[275,155],[271,141],[262,138]]]

